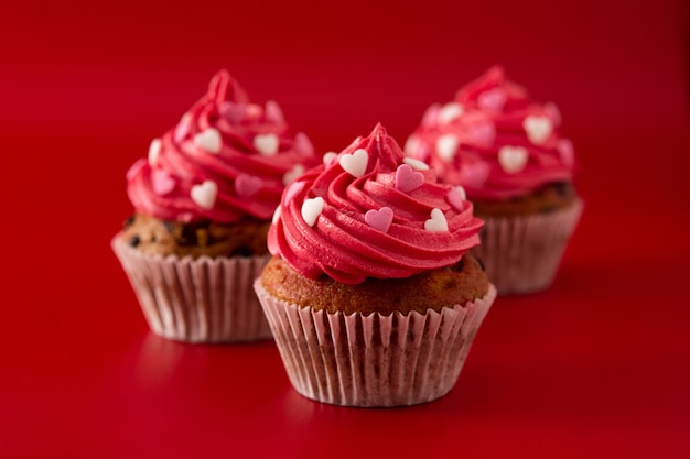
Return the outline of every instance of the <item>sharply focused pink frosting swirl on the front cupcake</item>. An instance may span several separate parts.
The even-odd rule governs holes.
[[[306,277],[357,284],[456,263],[481,227],[462,189],[405,159],[378,124],[285,189],[268,248]]]

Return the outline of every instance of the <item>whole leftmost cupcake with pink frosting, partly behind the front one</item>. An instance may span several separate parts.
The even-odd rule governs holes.
[[[226,70],[127,172],[134,212],[111,241],[157,335],[251,341],[270,329],[254,280],[283,188],[320,160],[280,107],[251,103]]]

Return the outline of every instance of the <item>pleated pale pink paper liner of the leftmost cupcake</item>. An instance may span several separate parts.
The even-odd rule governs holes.
[[[154,334],[200,343],[271,337],[252,288],[270,255],[152,256],[118,236],[111,247]]]

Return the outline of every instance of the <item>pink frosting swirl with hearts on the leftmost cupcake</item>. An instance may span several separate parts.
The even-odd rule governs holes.
[[[289,135],[280,107],[251,103],[220,70],[176,127],[153,140],[127,173],[134,208],[191,222],[269,220],[294,177],[319,163],[303,133]]]

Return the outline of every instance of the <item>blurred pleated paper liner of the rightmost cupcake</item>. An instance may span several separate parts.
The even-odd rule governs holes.
[[[583,203],[552,214],[485,217],[482,244],[472,252],[482,259],[499,295],[539,292],[553,282]]]

